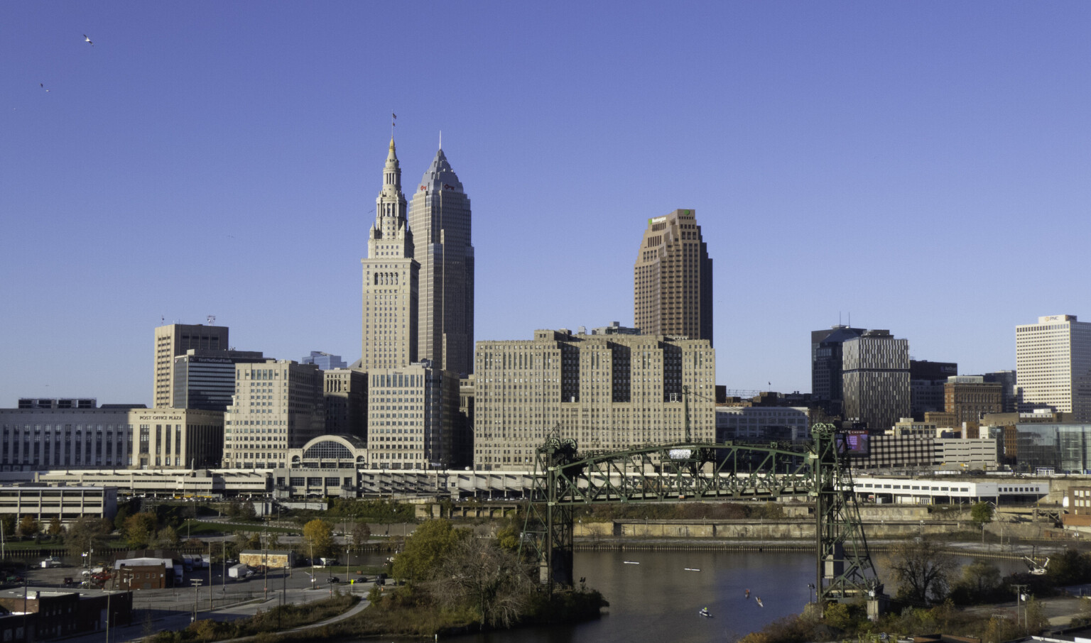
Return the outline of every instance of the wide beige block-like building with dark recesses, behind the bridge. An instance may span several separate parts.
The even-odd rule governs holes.
[[[716,351],[704,339],[573,335],[479,341],[473,462],[527,471],[558,432],[580,450],[716,440]],[[687,391],[688,395],[684,395]]]

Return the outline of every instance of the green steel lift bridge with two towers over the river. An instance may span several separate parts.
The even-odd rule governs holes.
[[[573,583],[573,511],[596,502],[775,500],[815,504],[815,587],[819,603],[882,594],[852,478],[843,434],[811,428],[805,449],[779,442],[654,445],[580,453],[575,440],[551,437],[537,450],[524,546],[537,556],[549,591]]]

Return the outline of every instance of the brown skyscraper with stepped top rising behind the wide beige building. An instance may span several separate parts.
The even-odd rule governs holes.
[[[712,259],[694,210],[648,219],[633,271],[642,332],[712,341]]]

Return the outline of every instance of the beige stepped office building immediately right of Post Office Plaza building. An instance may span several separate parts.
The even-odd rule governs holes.
[[[288,449],[325,429],[322,371],[314,364],[266,360],[236,364],[235,399],[224,421],[224,462],[229,469],[277,469]]]

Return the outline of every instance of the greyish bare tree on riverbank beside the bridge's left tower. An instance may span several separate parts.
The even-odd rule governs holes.
[[[481,624],[505,628],[527,608],[533,585],[513,551],[491,538],[464,538],[444,556],[432,590],[441,604],[472,606]]]

